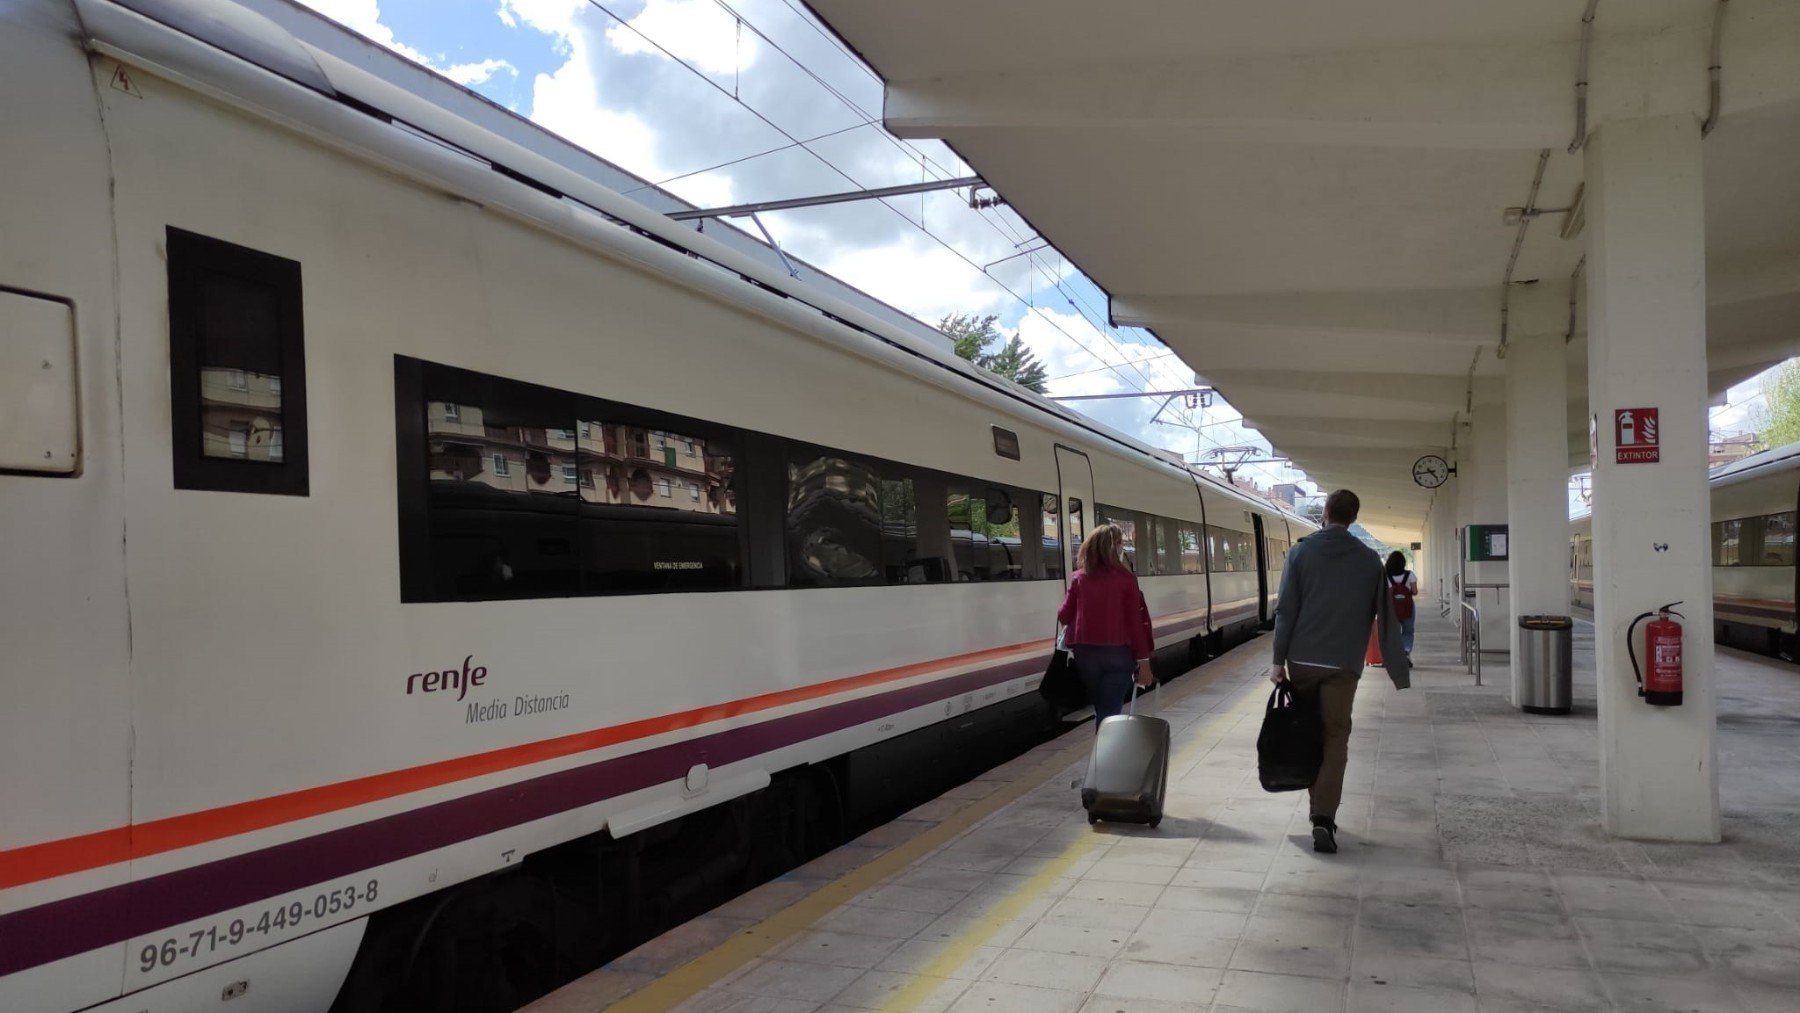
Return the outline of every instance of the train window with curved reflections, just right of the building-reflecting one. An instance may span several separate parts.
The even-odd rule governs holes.
[[[886,583],[882,520],[882,475],[875,464],[835,452],[797,452],[788,461],[788,585]]]

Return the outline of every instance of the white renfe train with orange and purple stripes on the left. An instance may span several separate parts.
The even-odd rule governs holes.
[[[0,1009],[511,1009],[1312,525],[284,0],[0,5]],[[29,101],[25,99],[29,95]]]

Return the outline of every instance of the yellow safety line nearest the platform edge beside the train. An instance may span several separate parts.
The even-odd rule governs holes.
[[[1202,686],[1211,686],[1220,678],[1226,678],[1224,669],[1220,669],[1217,675],[1204,671],[1195,671],[1188,675],[1186,678],[1175,684],[1177,686],[1175,702],[1184,700],[1192,693],[1199,691]],[[1166,686],[1157,689],[1157,695],[1161,696],[1165,691],[1168,691]],[[1219,720],[1222,718],[1217,718],[1213,723],[1217,723]],[[1208,725],[1208,729],[1210,727],[1211,723]],[[1062,774],[1069,765],[1076,763],[1082,756],[1089,752],[1091,743],[1085,736],[1076,734],[1075,740],[1076,741],[1069,743],[1067,747],[1053,752],[1049,759],[1040,763],[1030,774],[1017,777],[999,792],[994,792],[992,795],[981,799],[979,802],[952,813],[938,826],[920,833],[918,837],[913,837],[911,840],[895,846],[891,851],[877,858],[871,858],[869,862],[824,883],[823,887],[794,901],[787,909],[770,914],[769,918],[758,921],[756,925],[751,925],[742,932],[736,932],[718,946],[713,946],[706,954],[700,954],[698,957],[668,972],[666,975],[646,984],[644,988],[626,995],[619,1002],[612,1004],[608,1009],[616,1009],[621,1013],[635,1013],[635,1011],[662,1013],[664,1009],[673,1009],[675,1006],[680,1006],[684,1000],[704,991],[707,986],[720,981],[736,968],[743,966],[745,963],[767,954],[769,950],[779,946],[787,939],[792,939],[794,936],[812,928],[814,923],[817,923],[821,918],[837,910],[839,907],[844,907],[869,887],[875,887],[882,880],[905,871],[909,865],[923,858],[927,853],[959,837],[976,822],[999,811],[1006,804],[1022,799],[1024,795],[1037,790],[1044,781],[1049,781],[1051,777]],[[1192,749],[1193,747],[1184,749],[1181,756],[1186,758],[1192,752]],[[1067,855],[1058,856],[1057,862],[1064,862],[1064,858],[1067,858]],[[1073,858],[1067,858],[1067,862],[1073,864]],[[1044,873],[1033,876],[1026,883],[1026,887],[1037,883],[1040,876],[1044,876]],[[1026,891],[1021,889],[1019,892]],[[1004,903],[1012,903],[1012,898],[1008,898],[1008,901]],[[983,921],[983,925],[985,923],[986,921]],[[997,927],[999,925],[995,925],[995,928]],[[965,937],[967,936],[968,934],[965,934]],[[988,936],[992,936],[992,930],[981,934],[983,939]],[[947,946],[949,945],[950,943],[947,943]],[[956,945],[961,943],[958,941]],[[938,961],[932,961],[932,966],[936,964]],[[905,990],[902,993],[905,993]]]

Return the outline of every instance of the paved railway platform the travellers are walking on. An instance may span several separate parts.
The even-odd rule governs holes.
[[[1363,680],[1337,855],[1256,783],[1260,639],[1157,693],[1161,828],[1089,828],[1076,729],[527,1009],[1800,1008],[1800,671],[1719,651],[1697,846],[1600,829],[1591,626],[1568,716],[1510,707],[1503,659],[1474,686],[1435,617],[1415,660]]]

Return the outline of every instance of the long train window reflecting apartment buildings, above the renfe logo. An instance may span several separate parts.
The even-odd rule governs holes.
[[[675,435],[662,419],[398,360],[401,597],[743,587],[734,437],[706,423]],[[675,482],[693,495],[661,495]]]

